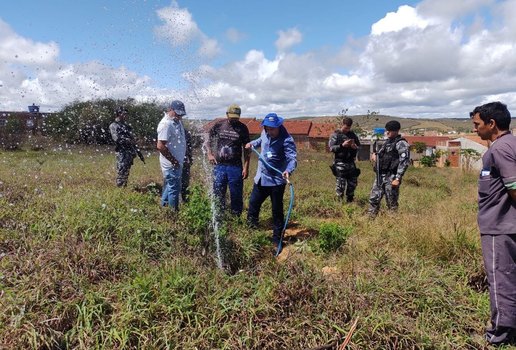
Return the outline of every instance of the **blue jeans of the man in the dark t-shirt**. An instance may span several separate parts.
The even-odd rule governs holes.
[[[215,165],[213,169],[213,194],[221,210],[226,209],[226,189],[228,186],[231,213],[240,215],[244,209],[242,167],[224,164]]]

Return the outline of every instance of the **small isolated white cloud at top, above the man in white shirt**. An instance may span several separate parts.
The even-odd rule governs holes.
[[[207,58],[214,57],[220,52],[217,40],[204,34],[188,9],[180,8],[176,1],[157,10],[156,13],[163,23],[154,31],[159,38],[173,47],[187,46],[195,42],[200,46],[198,54]]]

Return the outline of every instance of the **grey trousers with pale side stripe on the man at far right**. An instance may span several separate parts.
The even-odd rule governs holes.
[[[491,304],[486,339],[499,344],[516,336],[516,234],[481,235],[480,240]]]

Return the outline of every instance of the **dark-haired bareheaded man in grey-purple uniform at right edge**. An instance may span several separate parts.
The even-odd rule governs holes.
[[[489,344],[516,341],[516,136],[511,114],[501,102],[475,107],[475,132],[491,142],[478,181],[478,226],[489,285]]]

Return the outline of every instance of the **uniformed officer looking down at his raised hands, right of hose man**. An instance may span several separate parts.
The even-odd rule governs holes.
[[[328,146],[330,151],[335,154],[335,160],[331,166],[333,175],[337,179],[335,192],[339,199],[346,194],[346,202],[352,202],[355,195],[355,188],[358,185],[360,169],[355,165],[355,159],[360,147],[358,136],[351,131],[353,120],[344,117],[342,128],[336,130],[330,137]]]

